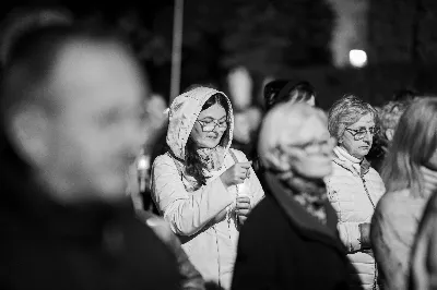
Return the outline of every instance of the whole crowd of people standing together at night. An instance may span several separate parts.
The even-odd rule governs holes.
[[[437,289],[437,97],[327,113],[275,80],[244,152],[225,93],[163,114],[110,27],[26,11],[2,37],[1,289]]]

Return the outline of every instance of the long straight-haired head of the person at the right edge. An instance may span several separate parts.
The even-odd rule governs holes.
[[[412,189],[421,196],[421,167],[437,171],[437,97],[414,101],[399,120],[381,177],[387,191]]]

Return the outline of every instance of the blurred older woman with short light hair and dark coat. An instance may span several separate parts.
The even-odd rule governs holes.
[[[334,144],[326,114],[309,105],[280,104],[267,114],[265,197],[243,227],[232,289],[349,289],[352,265],[323,182]]]

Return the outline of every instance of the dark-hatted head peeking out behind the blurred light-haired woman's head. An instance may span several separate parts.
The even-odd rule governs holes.
[[[264,102],[267,110],[281,102],[306,102],[316,106],[316,90],[308,82],[276,80],[264,86]]]

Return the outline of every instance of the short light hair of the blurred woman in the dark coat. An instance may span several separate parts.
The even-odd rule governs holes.
[[[284,146],[298,143],[299,131],[303,124],[310,118],[316,117],[327,124],[326,113],[305,102],[284,102],[274,106],[265,116],[259,135],[258,153],[265,168],[284,170],[277,168],[275,156]]]

